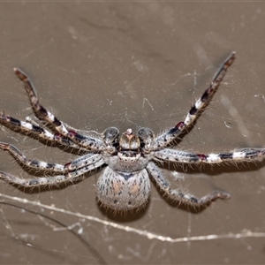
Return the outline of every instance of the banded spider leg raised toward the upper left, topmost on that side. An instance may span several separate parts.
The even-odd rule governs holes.
[[[93,150],[102,150],[104,148],[102,140],[93,137],[88,137],[72,130],[68,130],[63,122],[58,120],[57,117],[55,117],[48,110],[44,109],[43,106],[40,104],[34,86],[31,80],[27,77],[27,74],[22,72],[18,68],[14,68],[14,72],[19,77],[19,79],[24,82],[27,95],[31,103],[31,107],[34,110],[34,114],[37,118],[39,118],[42,121],[46,121],[59,134],[64,135],[64,137],[70,138],[80,147],[93,149]]]

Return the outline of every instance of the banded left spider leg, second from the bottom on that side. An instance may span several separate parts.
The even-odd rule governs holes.
[[[87,165],[95,164],[102,159],[102,155],[92,153],[82,155],[72,162],[62,165],[59,163],[47,163],[28,159],[18,148],[8,143],[0,142],[0,149],[8,151],[20,164],[29,168],[51,171],[53,173],[60,172],[63,174],[67,173],[68,171],[79,170],[80,168],[84,168]]]

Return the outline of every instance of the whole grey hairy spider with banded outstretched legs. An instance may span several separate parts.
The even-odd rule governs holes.
[[[229,199],[230,194],[223,191],[215,191],[202,198],[196,198],[190,193],[171,189],[170,183],[155,162],[180,164],[254,162],[264,156],[265,148],[242,148],[229,153],[208,155],[169,148],[174,140],[193,127],[194,121],[208,106],[234,60],[235,52],[231,52],[231,55],[221,64],[201,98],[188,111],[184,122],[179,122],[170,130],[157,136],[151,129],[145,127],[140,128],[136,134],[133,134],[132,129],[127,129],[120,136],[116,127],[110,127],[103,133],[95,135],[91,135],[89,132],[80,133],[81,131],[66,125],[46,110],[40,104],[31,80],[24,72],[15,68],[14,72],[25,84],[31,107],[39,124],[28,119],[21,121],[4,114],[0,115],[1,123],[14,127],[15,130],[20,130],[19,132],[30,133],[39,140],[49,140],[51,143],[57,143],[66,148],[74,148],[80,151],[81,155],[71,163],[64,165],[46,163],[28,159],[18,148],[0,142],[0,148],[8,151],[21,165],[43,170],[48,175],[42,178],[22,179],[0,171],[0,178],[13,185],[23,187],[58,186],[64,182],[80,180],[88,171],[106,164],[107,166],[97,181],[96,195],[103,206],[114,210],[143,207],[150,196],[149,176],[170,199],[185,202],[194,207],[207,206],[216,199]]]

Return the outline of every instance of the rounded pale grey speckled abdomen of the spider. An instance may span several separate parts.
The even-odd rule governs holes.
[[[96,193],[107,208],[120,211],[142,208],[150,195],[148,171],[119,172],[107,167],[97,181]]]

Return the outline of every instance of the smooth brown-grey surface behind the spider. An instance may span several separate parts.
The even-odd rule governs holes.
[[[264,147],[264,3],[0,3],[1,110],[25,119],[31,113],[23,85],[12,72],[20,67],[34,82],[42,104],[69,125],[102,132],[138,126],[155,133],[183,120],[192,102],[231,52],[220,92],[179,146],[199,153]],[[1,126],[2,128],[2,126]],[[67,163],[72,155],[5,129],[0,140],[30,158]],[[0,153],[0,170],[30,178]],[[170,243],[57,211],[37,210],[78,231],[107,263],[258,264],[265,258],[265,167],[241,164],[163,170],[173,186],[196,195],[216,188],[231,201],[216,201],[195,213],[170,205],[152,185],[148,207],[138,215],[113,216],[95,201],[100,171],[77,185],[24,193],[1,182],[1,194],[40,201],[106,222],[183,239]],[[174,167],[172,167],[174,168]],[[48,219],[0,206],[2,264],[95,264],[91,251],[69,231],[54,231]],[[252,235],[240,238],[240,234]],[[253,234],[256,232],[256,234]],[[222,239],[229,235],[231,239]],[[236,234],[239,234],[237,237]],[[217,235],[217,239],[208,239]],[[200,237],[185,242],[186,237]],[[259,236],[261,236],[259,238]]]

